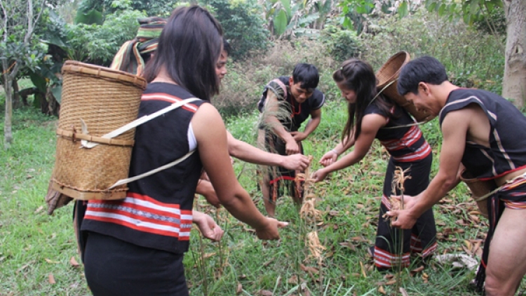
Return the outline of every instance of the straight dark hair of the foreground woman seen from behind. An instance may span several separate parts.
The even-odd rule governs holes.
[[[166,23],[157,51],[144,69],[151,82],[163,67],[170,78],[202,100],[217,94],[215,66],[222,48],[221,25],[204,8],[176,8]]]

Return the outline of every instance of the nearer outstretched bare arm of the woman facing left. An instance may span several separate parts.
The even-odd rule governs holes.
[[[313,175],[316,180],[315,182],[325,179],[329,173],[332,173],[335,170],[341,170],[342,168],[352,166],[354,163],[363,159],[365,154],[367,154],[371,148],[372,141],[375,140],[379,128],[382,128],[385,124],[385,117],[379,114],[367,114],[363,116],[362,130],[358,139],[354,142],[353,151],[349,152],[349,154],[346,154],[335,163],[316,171]]]

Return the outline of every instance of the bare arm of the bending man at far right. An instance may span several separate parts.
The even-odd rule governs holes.
[[[448,191],[457,186],[458,171],[466,146],[466,133],[469,125],[466,119],[470,119],[473,115],[472,110],[461,109],[445,116],[442,123],[443,142],[438,173],[433,177],[427,189],[415,196],[414,206],[407,210],[393,211],[393,216],[398,216],[393,226],[403,229],[412,228],[422,213],[438,203]]]

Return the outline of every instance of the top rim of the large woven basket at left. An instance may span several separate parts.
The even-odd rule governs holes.
[[[76,60],[67,60],[64,62],[61,72],[62,74],[83,74],[106,79],[115,79],[124,83],[132,83],[133,85],[142,88],[142,90],[146,89],[147,86],[146,79],[141,76]]]

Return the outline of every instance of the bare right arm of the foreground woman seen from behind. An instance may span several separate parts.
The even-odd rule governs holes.
[[[201,162],[224,208],[238,220],[254,227],[259,238],[279,238],[278,227],[283,225],[259,213],[236,179],[227,149],[227,130],[219,112],[212,105],[203,104],[191,124]]]

